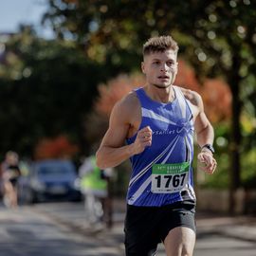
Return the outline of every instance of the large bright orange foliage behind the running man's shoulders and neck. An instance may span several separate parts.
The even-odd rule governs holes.
[[[196,91],[202,96],[210,121],[217,122],[229,119],[231,115],[229,85],[217,79],[206,80],[204,84],[200,85],[194,70],[183,60],[179,60],[178,63],[179,69],[175,84]],[[120,75],[107,84],[101,84],[99,87],[100,98],[96,102],[96,111],[103,116],[109,116],[117,101],[136,87],[143,86],[144,83],[145,79],[142,75]]]

